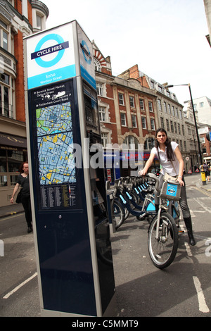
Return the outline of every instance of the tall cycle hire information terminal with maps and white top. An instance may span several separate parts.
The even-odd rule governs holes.
[[[113,316],[115,280],[92,44],[76,20],[24,39],[43,316]],[[92,147],[92,148],[91,148]]]

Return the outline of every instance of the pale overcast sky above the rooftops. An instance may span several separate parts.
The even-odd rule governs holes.
[[[156,82],[191,85],[193,99],[211,99],[211,47],[203,0],[41,0],[46,29],[77,20],[113,75],[133,65]],[[171,89],[180,104],[187,86]]]

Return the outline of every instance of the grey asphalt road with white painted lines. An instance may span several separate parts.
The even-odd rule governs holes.
[[[179,235],[171,266],[159,270],[148,256],[148,223],[130,217],[111,238],[119,317],[211,317],[211,190],[186,177],[196,246]],[[210,185],[211,189],[211,185]],[[181,221],[181,227],[184,222]],[[24,214],[0,219],[0,316],[39,317],[33,233]]]

